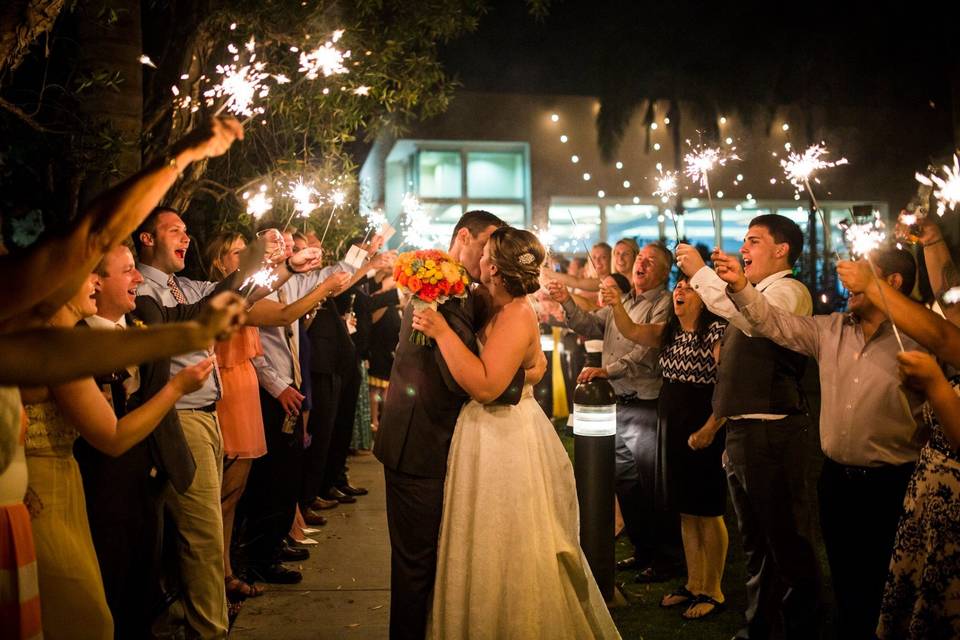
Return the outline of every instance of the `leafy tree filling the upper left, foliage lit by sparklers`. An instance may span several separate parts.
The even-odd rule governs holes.
[[[50,12],[56,9],[55,3],[47,4]],[[141,24],[135,19],[136,0],[81,0],[60,11],[46,47],[34,43],[29,55],[21,54],[22,63],[13,64],[17,56],[10,54],[11,62],[0,67],[16,68],[3,78],[0,92],[19,111],[2,116],[11,134],[0,141],[5,225],[9,217],[40,210],[48,226],[57,226],[76,210],[87,176],[128,171],[132,165],[120,160],[131,142],[144,162],[162,156],[171,140],[219,106],[220,100],[206,104],[203,95],[217,75],[215,67],[231,61],[231,44],[245,56],[243,45],[252,36],[267,70],[292,82],[269,80],[270,95],[260,101],[266,111],[247,126],[244,143],[223,160],[192,165],[169,203],[186,211],[192,229],[205,236],[227,226],[249,227],[242,194],[260,184],[270,185],[275,213],[285,219],[291,205],[279,194],[304,176],[327,195],[334,189],[348,195],[338,207],[338,226],[355,228],[351,145],[383,127],[402,128],[446,109],[455,84],[438,61],[437,47],[474,29],[484,5],[470,0],[306,4],[144,3],[141,20],[149,28],[143,29],[142,53],[154,66],[136,61],[141,53],[135,51]],[[104,28],[127,46],[95,49],[93,36],[99,33],[102,40],[98,30]],[[349,72],[303,79],[299,53],[329,41],[340,29],[344,34],[337,47],[351,52]],[[116,98],[135,92],[141,75],[143,113],[134,131],[121,125],[135,116],[120,113],[118,107],[127,105]],[[327,205],[308,224],[322,225],[329,211]]]

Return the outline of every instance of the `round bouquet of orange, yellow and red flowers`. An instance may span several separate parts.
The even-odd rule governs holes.
[[[451,297],[466,298],[467,284],[470,282],[462,264],[445,251],[436,249],[400,254],[393,268],[393,278],[397,288],[413,296],[411,302],[414,309],[436,309]],[[432,340],[423,332],[414,331],[410,334],[410,342],[427,346]]]

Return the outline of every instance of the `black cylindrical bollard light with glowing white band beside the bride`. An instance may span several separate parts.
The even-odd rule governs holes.
[[[587,352],[587,366],[600,366],[600,353]],[[614,448],[617,395],[605,378],[578,384],[573,392],[573,473],[580,504],[580,546],[608,602],[613,599]]]

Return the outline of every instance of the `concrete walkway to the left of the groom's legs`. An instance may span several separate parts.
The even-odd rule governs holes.
[[[351,457],[350,482],[370,494],[324,511],[329,522],[310,537],[298,585],[266,585],[247,600],[231,638],[386,638],[390,617],[390,540],[383,467],[372,455]]]

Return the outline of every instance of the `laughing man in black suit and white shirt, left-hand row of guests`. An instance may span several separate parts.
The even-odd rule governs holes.
[[[101,286],[96,294],[97,315],[87,319],[90,326],[126,330],[145,321],[158,323],[166,315],[152,299],[136,298],[143,277],[126,246],[105,254],[96,272]],[[153,308],[144,309],[144,303]],[[132,313],[138,304],[139,317]],[[196,305],[189,315],[199,312]],[[211,323],[222,315],[207,314],[205,324],[214,326]],[[209,335],[213,333],[210,329]],[[184,343],[184,348],[189,346]],[[169,360],[160,360],[121,369],[97,382],[120,419],[152,398],[169,379]],[[82,438],[74,453],[116,637],[149,637],[165,601],[160,566],[163,490],[169,481],[177,491],[185,491],[196,471],[177,414],[168,412],[147,438],[121,456],[101,453]]]

